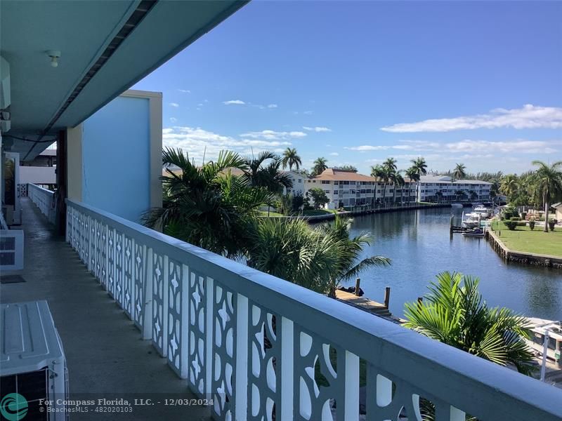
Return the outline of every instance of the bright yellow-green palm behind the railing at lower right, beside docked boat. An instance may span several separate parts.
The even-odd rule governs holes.
[[[443,272],[422,302],[405,304],[404,326],[520,373],[533,370],[525,318],[510,309],[490,308],[478,292],[478,278]]]

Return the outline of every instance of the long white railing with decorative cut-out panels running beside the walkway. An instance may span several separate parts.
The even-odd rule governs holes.
[[[358,420],[364,364],[367,420],[561,420],[559,389],[83,203],[67,241],[217,420]]]

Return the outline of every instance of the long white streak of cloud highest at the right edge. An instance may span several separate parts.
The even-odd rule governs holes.
[[[476,128],[562,128],[562,108],[524,105],[522,108],[492,109],[489,114],[429,119],[416,123],[398,123],[382,127],[391,133],[447,132]]]

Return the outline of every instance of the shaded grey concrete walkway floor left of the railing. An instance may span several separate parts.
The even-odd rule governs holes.
[[[22,198],[25,283],[4,283],[0,302],[47,300],[67,357],[70,399],[193,399],[39,208]],[[148,396],[148,394],[152,394]],[[156,395],[157,394],[157,395]],[[210,420],[211,408],[133,407],[133,413],[73,413],[72,420]],[[92,409],[90,409],[92,410]]]

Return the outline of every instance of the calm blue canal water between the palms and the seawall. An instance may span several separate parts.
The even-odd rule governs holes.
[[[351,235],[368,232],[374,240],[364,256],[383,255],[393,262],[390,267],[369,269],[361,275],[365,297],[382,302],[384,287],[390,286],[390,310],[403,316],[404,302],[424,295],[436,274],[457,271],[480,278],[481,293],[490,306],[509,307],[525,316],[562,319],[562,270],[507,263],[485,239],[461,234],[451,237],[451,213],[455,225],[460,225],[462,208],[355,217]]]

